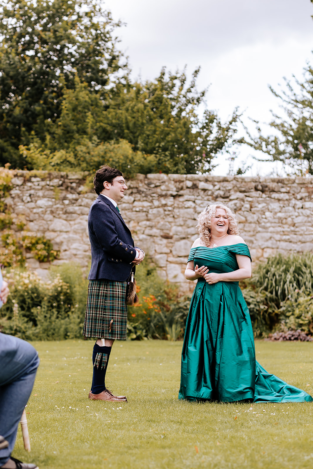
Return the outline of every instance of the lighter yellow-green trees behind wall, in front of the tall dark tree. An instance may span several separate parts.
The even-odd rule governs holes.
[[[225,126],[214,112],[199,119],[204,92],[195,89],[197,73],[186,87],[183,73],[166,77],[162,70],[145,84],[118,83],[105,99],[76,77],[75,88],[64,92],[60,118],[46,121],[45,138],[33,132],[31,144],[20,147],[25,161],[34,169],[93,171],[109,163],[114,149],[125,175],[210,171],[214,156],[227,151],[238,115]]]

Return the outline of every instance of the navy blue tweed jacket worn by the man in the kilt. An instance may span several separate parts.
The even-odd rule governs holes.
[[[127,280],[136,257],[134,241],[122,215],[101,194],[90,207],[88,233],[92,249],[88,279]]]

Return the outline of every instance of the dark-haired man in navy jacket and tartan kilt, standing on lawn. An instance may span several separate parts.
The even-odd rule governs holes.
[[[92,266],[83,329],[85,337],[97,338],[92,353],[89,399],[127,402],[126,396],[115,396],[106,388],[105,377],[114,340],[126,339],[127,280],[132,267],[142,262],[145,253],[134,247],[130,229],[117,207],[127,189],[121,171],[101,166],[93,185],[98,197],[88,215]]]

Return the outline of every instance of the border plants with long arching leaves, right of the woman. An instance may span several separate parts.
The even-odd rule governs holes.
[[[313,254],[269,257],[251,280],[241,282],[241,288],[255,336],[277,327],[311,332]]]

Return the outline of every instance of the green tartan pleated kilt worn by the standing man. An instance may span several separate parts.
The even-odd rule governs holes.
[[[126,339],[126,286],[127,282],[89,280],[83,328],[85,337]]]

